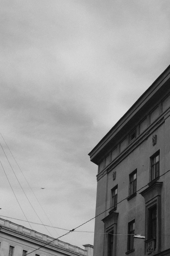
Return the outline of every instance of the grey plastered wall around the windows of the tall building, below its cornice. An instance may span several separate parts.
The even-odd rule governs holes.
[[[161,176],[170,170],[170,96],[164,91],[162,98],[153,101],[146,112],[140,112],[131,123],[131,128],[124,130],[123,136],[115,139],[112,148],[105,147],[105,153],[99,161],[97,175],[96,215],[110,208],[111,189],[118,185],[118,202],[129,195],[129,174],[137,168],[137,190],[147,185],[149,179],[150,157],[160,150]],[[134,142],[129,143],[129,134],[136,129]],[[156,145],[152,145],[152,136],[157,135]],[[98,150],[99,152],[100,150]],[[110,154],[110,162],[108,155]],[[113,172],[116,179],[113,180]],[[157,181],[163,182],[161,188],[161,247],[157,255],[170,255],[170,172]],[[146,188],[146,187],[145,187]],[[145,236],[144,197],[137,192],[130,200],[125,199],[117,205],[116,251],[113,255],[122,256],[127,252],[128,223],[135,219],[135,233]],[[109,216],[109,209],[95,220],[94,256],[106,254],[107,234],[103,218]],[[169,235],[168,235],[169,234]],[[145,241],[135,239],[135,251],[128,255],[145,255]],[[152,255],[152,254],[151,254]]]

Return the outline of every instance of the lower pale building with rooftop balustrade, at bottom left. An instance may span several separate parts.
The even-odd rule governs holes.
[[[0,218],[0,256],[24,256],[49,243],[54,238]],[[85,250],[56,239],[30,256],[92,256],[93,246]]]

